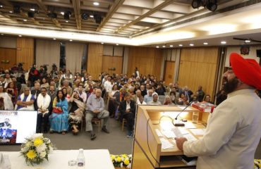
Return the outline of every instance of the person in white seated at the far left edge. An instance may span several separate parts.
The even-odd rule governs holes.
[[[4,87],[0,85],[0,110],[13,110],[13,102],[11,97],[4,91]]]

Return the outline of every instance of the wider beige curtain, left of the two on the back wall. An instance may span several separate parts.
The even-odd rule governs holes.
[[[57,65],[57,68],[59,68],[60,42],[37,39],[35,63],[38,66],[47,64],[48,73],[51,71],[51,65],[54,63]]]

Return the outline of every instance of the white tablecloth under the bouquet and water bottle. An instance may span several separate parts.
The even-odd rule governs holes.
[[[20,156],[19,152],[0,151],[2,154],[8,154],[12,169],[74,169],[77,167],[68,166],[68,161],[76,160],[78,152],[78,150],[54,150],[48,156],[49,161],[44,160],[40,165],[28,166],[25,163],[25,158]],[[84,150],[84,155],[85,169],[114,169],[114,165],[111,162],[109,151],[107,149]]]

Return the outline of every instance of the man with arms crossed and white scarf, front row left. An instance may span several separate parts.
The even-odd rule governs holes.
[[[35,111],[34,107],[35,96],[30,94],[29,87],[23,89],[23,94],[20,94],[16,101],[17,111]]]

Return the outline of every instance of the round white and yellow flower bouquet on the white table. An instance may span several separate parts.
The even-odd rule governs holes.
[[[25,143],[21,145],[20,154],[25,157],[25,162],[40,164],[44,158],[48,161],[48,154],[53,151],[54,146],[50,139],[44,138],[42,133],[33,134],[26,138]]]

